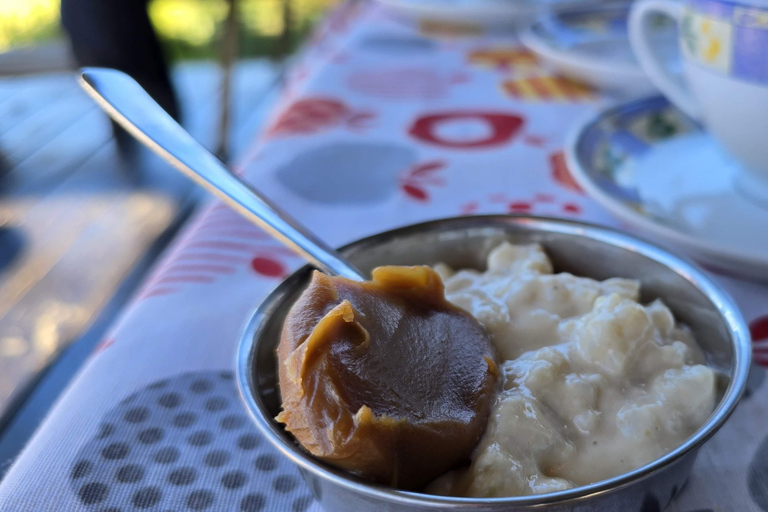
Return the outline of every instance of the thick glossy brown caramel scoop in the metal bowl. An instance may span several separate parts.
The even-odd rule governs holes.
[[[469,459],[498,377],[488,333],[429,267],[315,272],[277,350],[284,423],[312,455],[419,489]]]

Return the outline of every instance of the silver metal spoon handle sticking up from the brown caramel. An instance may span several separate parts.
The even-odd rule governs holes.
[[[355,281],[365,280],[352,263],[193,139],[133,78],[114,69],[84,68],[80,83],[131,135],[317,268]]]

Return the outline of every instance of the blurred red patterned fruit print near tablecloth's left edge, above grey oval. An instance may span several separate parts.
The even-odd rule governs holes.
[[[267,137],[309,135],[342,125],[362,131],[375,117],[369,110],[355,110],[335,98],[307,97],[289,105],[267,130]]]

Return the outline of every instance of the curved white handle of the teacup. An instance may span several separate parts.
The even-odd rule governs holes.
[[[700,119],[699,106],[693,100],[690,91],[682,87],[662,64],[651,44],[648,20],[653,14],[665,14],[675,20],[680,27],[683,19],[683,5],[674,0],[640,0],[632,6],[629,15],[629,41],[640,62],[640,67],[669,100],[680,110]]]

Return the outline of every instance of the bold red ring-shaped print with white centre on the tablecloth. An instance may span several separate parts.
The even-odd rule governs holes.
[[[443,130],[450,125],[483,123],[487,130],[480,136],[449,137]],[[510,143],[523,127],[524,119],[506,112],[458,110],[431,112],[417,118],[408,130],[415,139],[451,149],[487,149]]]

